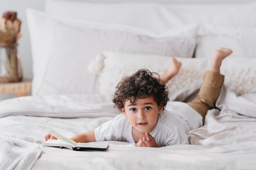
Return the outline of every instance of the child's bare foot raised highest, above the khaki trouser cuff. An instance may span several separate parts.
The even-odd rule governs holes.
[[[231,49],[220,48],[213,52],[210,63],[210,71],[220,73],[222,60],[229,56],[233,51]]]

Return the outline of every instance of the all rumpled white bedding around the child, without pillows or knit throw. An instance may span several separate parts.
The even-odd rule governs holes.
[[[170,98],[177,101],[192,99],[199,87],[200,83],[193,84],[190,88],[171,93]],[[97,96],[91,96],[92,100],[88,103],[85,102],[86,97],[82,97],[79,102],[80,97],[29,96],[2,101],[0,102],[0,117],[2,117],[0,118],[0,135],[24,139],[40,145],[49,129],[71,137],[93,130],[119,114],[112,105],[110,106],[110,103],[106,101],[99,103]],[[120,141],[105,141],[110,144],[110,147],[104,152],[42,148],[42,153],[32,170],[82,170],[84,168],[93,170],[254,170],[256,169],[255,99],[256,94],[237,97],[227,88],[222,88],[216,102],[222,111],[209,110],[205,125],[188,132],[191,145],[141,148]],[[93,101],[98,104],[93,104]],[[76,105],[73,107],[73,104]],[[37,108],[38,106],[40,109]],[[79,108],[82,108],[81,112]],[[64,109],[66,109],[65,112],[61,113]],[[109,109],[112,109],[113,113],[110,113]],[[81,115],[80,118],[78,118],[79,115]],[[67,118],[72,116],[76,118]]]

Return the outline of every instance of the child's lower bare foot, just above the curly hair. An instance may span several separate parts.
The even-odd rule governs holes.
[[[179,73],[181,62],[178,62],[174,57],[171,57],[168,67],[162,73],[161,80],[166,84],[172,77]]]

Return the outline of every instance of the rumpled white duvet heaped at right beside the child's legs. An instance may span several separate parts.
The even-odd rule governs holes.
[[[223,86],[216,107],[207,112],[204,126],[188,133],[190,144],[220,146],[256,142],[256,93],[237,97]]]

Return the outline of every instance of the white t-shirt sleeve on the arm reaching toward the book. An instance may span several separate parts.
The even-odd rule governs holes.
[[[94,130],[96,141],[116,141],[121,139],[124,124],[125,117],[122,114],[103,123]]]

